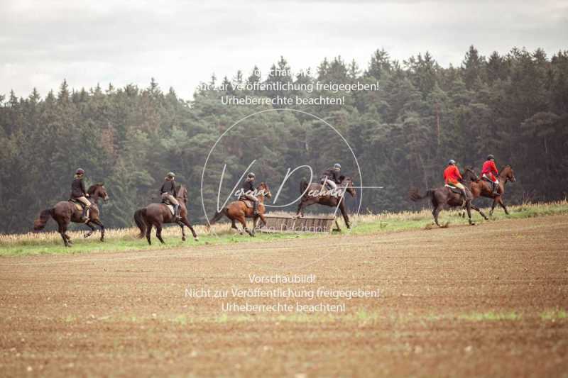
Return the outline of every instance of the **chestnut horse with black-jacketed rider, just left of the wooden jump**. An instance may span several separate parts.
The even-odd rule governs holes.
[[[263,221],[264,225],[266,226],[266,219],[264,218],[264,213],[266,212],[266,207],[264,206],[264,196],[266,196],[266,198],[272,197],[271,189],[268,188],[268,185],[264,182],[261,182],[261,184],[256,187],[255,194],[257,194],[256,198],[258,199],[257,216],[254,215],[252,208],[247,206],[244,201],[241,201],[239,199],[238,201],[232,201],[230,204],[225,206],[222,211],[217,211],[212,220],[209,222],[209,225],[207,225],[207,228],[210,228],[212,224],[219,221],[219,219],[223,218],[223,216],[226,216],[231,220],[231,228],[239,231],[239,234],[242,235],[243,230],[245,230],[246,233],[254,236],[254,230],[256,230],[256,222],[258,221],[258,218],[261,218],[261,221]],[[246,227],[246,218],[253,218],[252,230],[249,230],[249,228]],[[239,223],[241,223],[243,230],[239,230],[239,228],[236,227],[235,221],[239,221]]]

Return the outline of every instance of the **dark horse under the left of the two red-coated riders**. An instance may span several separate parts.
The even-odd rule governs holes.
[[[473,177],[470,177],[469,175],[466,174],[465,177],[461,179],[461,183],[464,184],[464,186],[467,188],[469,187],[469,183],[471,182],[472,179]],[[468,221],[471,226],[475,225],[474,221],[471,220],[471,209],[479,211],[479,213],[481,213],[481,215],[487,219],[485,214],[482,213],[480,209],[478,209],[476,206],[473,206],[471,204],[471,201],[473,199],[469,200],[461,199],[461,194],[455,193],[449,187],[438,187],[436,189],[428,189],[426,191],[426,194],[423,196],[420,195],[418,189],[410,190],[410,199],[412,201],[420,201],[421,199],[425,199],[426,197],[430,197],[430,201],[432,202],[432,207],[433,207],[432,216],[434,216],[434,222],[438,227],[442,227],[438,223],[438,215],[439,212],[442,211],[442,209],[444,208],[451,209],[454,207],[464,206],[466,208]]]

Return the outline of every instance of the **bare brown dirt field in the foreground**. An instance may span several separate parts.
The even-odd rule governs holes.
[[[568,310],[567,242],[568,216],[547,216],[368,236],[4,258],[0,376],[568,376],[568,318],[559,312]],[[313,265],[261,267],[297,266],[324,243],[340,247]],[[317,279],[251,284],[249,273]],[[378,288],[381,297],[325,299],[346,311],[302,315],[221,308],[226,301],[294,300],[185,296],[188,287],[236,286]],[[506,318],[496,319],[500,314]]]

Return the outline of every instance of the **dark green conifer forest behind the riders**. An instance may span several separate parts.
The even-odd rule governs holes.
[[[272,72],[294,69],[285,57],[271,67]],[[62,80],[45,95],[35,89],[27,96],[13,91],[0,95],[0,233],[28,232],[41,210],[68,199],[78,167],[87,172],[88,184],[104,182],[109,191],[111,200],[102,205],[107,227],[131,226],[134,211],[156,200],[169,171],[189,188],[190,218],[202,223],[200,184],[209,151],[236,121],[273,108],[224,105],[222,96],[337,96],[328,91],[239,91],[239,84],[261,80],[246,74],[258,67],[249,70],[221,79],[213,74],[192,99],[181,99],[174,88],[160,88],[156,79],[143,88],[97,84],[89,89],[72,89]],[[342,93],[342,106],[292,106],[337,128],[354,150],[364,184],[383,187],[364,192],[363,211],[415,209],[418,205],[408,201],[410,188],[425,191],[443,184],[450,158],[479,173],[489,153],[498,167],[511,165],[515,171],[507,203],[567,196],[568,50],[550,57],[542,49],[513,48],[486,57],[471,46],[462,62],[449,67],[441,67],[429,52],[400,62],[376,50],[366,65],[325,58],[309,72],[269,74],[264,80],[378,82],[376,91]],[[216,85],[226,91],[206,89]],[[204,175],[207,209],[215,205],[223,162],[228,162],[229,189],[255,159],[257,177],[273,190],[288,167],[307,162],[317,171],[340,162],[356,183],[361,179],[346,145],[302,112],[250,118],[219,147],[222,156],[209,162]],[[279,201],[297,196],[299,179],[290,180]],[[356,200],[348,204],[353,211]]]

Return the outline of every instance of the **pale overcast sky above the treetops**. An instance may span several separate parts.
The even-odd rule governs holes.
[[[362,68],[377,48],[403,60],[430,51],[459,65],[513,48],[568,49],[568,1],[0,0],[0,94],[42,96],[71,87],[146,87],[190,99],[209,79],[266,72],[283,55],[293,70],[324,57]]]

